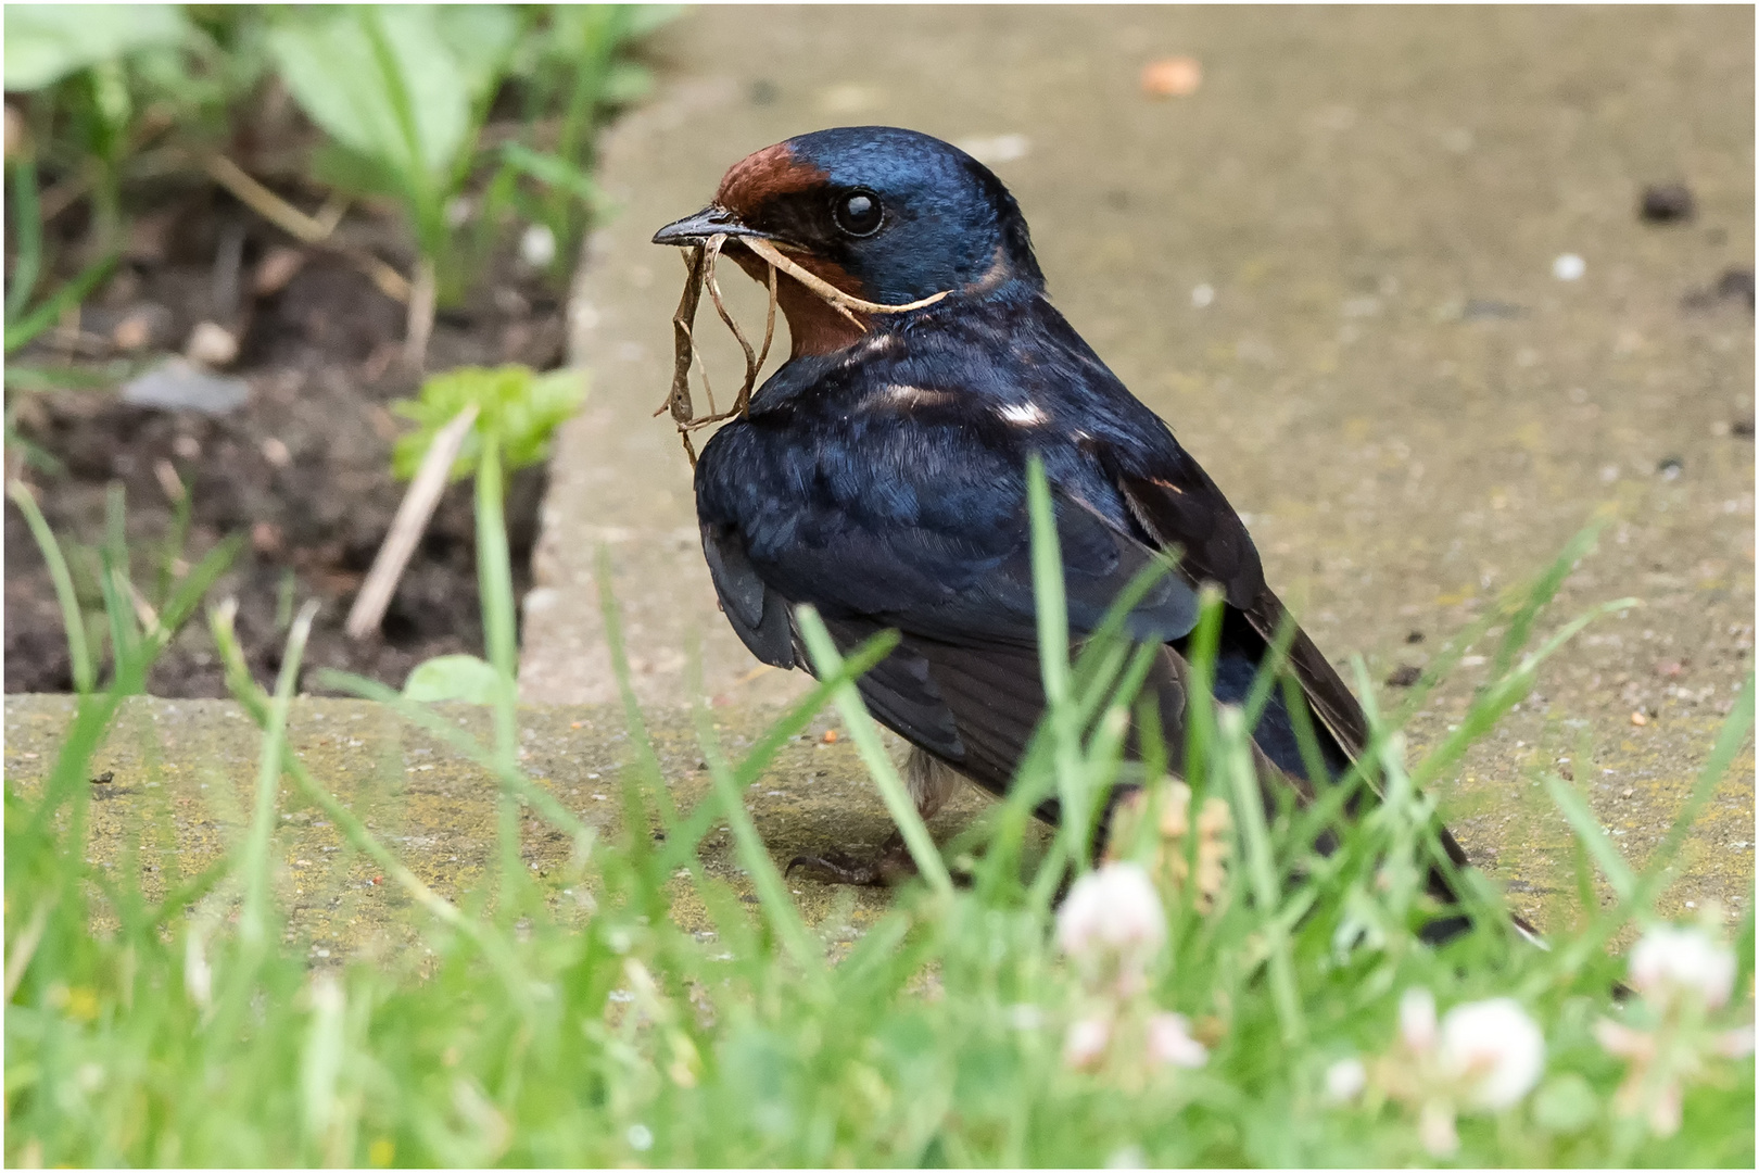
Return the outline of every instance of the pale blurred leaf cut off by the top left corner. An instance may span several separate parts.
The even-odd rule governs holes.
[[[9,4],[5,88],[40,90],[88,65],[176,44],[188,32],[174,4]]]

